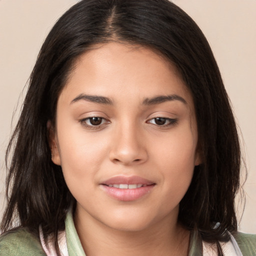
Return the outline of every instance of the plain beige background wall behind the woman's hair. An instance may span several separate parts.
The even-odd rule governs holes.
[[[75,0],[0,0],[0,211],[4,150],[43,39]],[[244,138],[249,170],[240,230],[256,233],[256,0],[173,0],[201,27],[220,67]],[[18,103],[19,102],[19,103]],[[241,210],[240,210],[241,212]]]

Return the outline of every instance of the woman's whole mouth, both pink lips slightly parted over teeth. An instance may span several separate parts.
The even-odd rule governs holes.
[[[100,183],[109,196],[121,201],[137,200],[148,194],[155,183],[139,176],[114,176]]]

